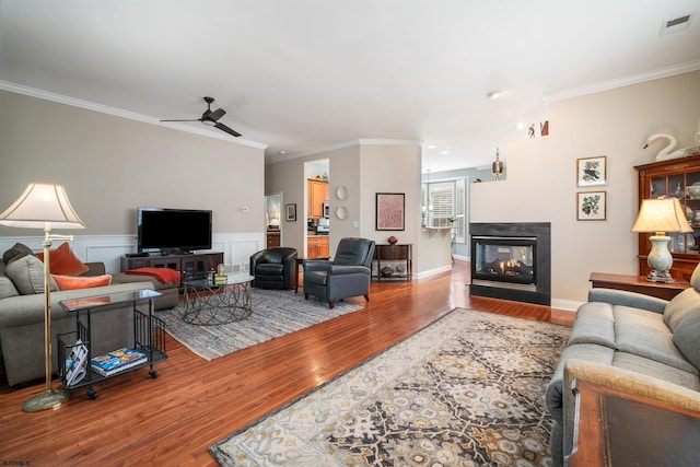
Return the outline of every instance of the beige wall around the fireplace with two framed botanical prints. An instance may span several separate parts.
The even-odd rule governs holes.
[[[649,81],[551,104],[550,136],[508,145],[508,180],[470,187],[471,222],[551,222],[552,304],[586,300],[591,272],[639,273],[634,165],[665,143],[655,132],[695,144],[700,72]],[[576,159],[607,156],[603,187],[576,187]],[[576,192],[605,190],[606,221],[578,221]]]

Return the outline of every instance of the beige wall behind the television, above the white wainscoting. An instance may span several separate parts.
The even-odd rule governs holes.
[[[81,235],[135,234],[139,206],[211,209],[215,233],[264,231],[262,149],[5,91],[0,108],[0,210],[30,182],[56,182]]]

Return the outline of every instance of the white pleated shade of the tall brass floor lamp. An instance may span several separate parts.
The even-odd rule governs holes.
[[[0,214],[0,224],[25,229],[84,229],[61,185],[31,183]]]

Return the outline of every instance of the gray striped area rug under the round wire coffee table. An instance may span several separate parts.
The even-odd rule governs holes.
[[[165,330],[183,346],[206,360],[213,360],[236,350],[332,319],[362,306],[328,302],[288,290],[252,290],[253,313],[245,319],[218,326],[197,326],[183,320],[183,305],[155,312],[165,323]]]

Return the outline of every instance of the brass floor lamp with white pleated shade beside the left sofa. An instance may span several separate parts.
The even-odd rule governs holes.
[[[22,405],[25,412],[56,408],[70,398],[67,389],[51,387],[51,302],[50,302],[50,246],[51,241],[72,241],[72,235],[51,234],[51,229],[84,229],[62,186],[31,183],[22,196],[0,214],[0,224],[12,227],[44,229],[44,355],[46,388]]]

